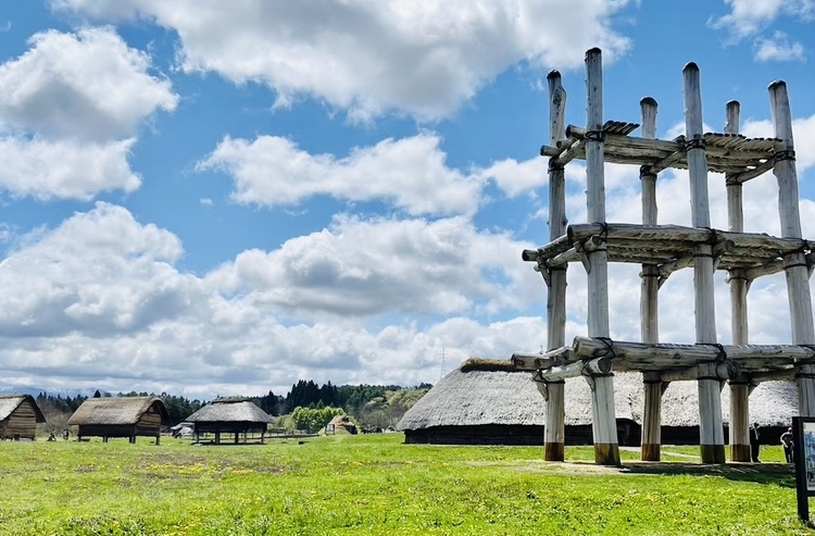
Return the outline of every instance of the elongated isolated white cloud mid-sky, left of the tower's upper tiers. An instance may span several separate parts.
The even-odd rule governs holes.
[[[310,154],[292,141],[225,138],[199,170],[229,173],[234,198],[260,205],[299,204],[328,195],[346,201],[388,201],[410,214],[473,213],[481,180],[446,165],[440,138],[417,135],[358,148],[348,157]]]

